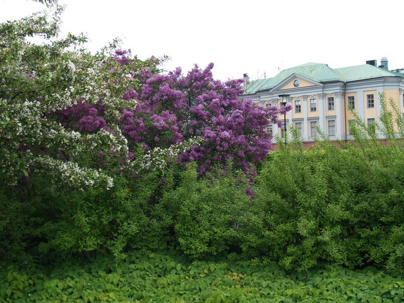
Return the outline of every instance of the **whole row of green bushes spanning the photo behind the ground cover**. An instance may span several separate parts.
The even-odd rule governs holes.
[[[176,164],[122,174],[110,190],[57,190],[39,176],[0,192],[1,258],[174,248],[192,257],[237,252],[285,269],[326,262],[404,273],[402,142],[382,144],[370,130],[357,138],[342,149],[281,146],[254,183],[231,163],[204,178]]]

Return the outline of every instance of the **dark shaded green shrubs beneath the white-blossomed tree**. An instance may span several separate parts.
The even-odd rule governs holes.
[[[0,259],[54,252],[89,256],[97,250],[121,258],[128,248],[167,247],[171,237],[151,214],[163,188],[170,189],[170,170],[165,173],[164,180],[157,171],[135,177],[122,173],[109,190],[71,189],[69,194],[36,187],[49,182],[48,176],[37,174],[24,190],[0,196]]]

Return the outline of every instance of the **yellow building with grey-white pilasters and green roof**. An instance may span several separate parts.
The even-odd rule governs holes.
[[[244,74],[244,94],[262,106],[280,106],[282,99],[292,105],[286,114],[286,124],[293,125],[302,140],[309,143],[319,127],[330,139],[349,140],[348,121],[354,119],[352,107],[366,123],[378,123],[380,116],[379,93],[385,100],[393,98],[403,112],[404,75],[388,70],[382,58],[367,64],[332,69],[327,64],[307,63],[281,71],[273,78],[248,81]],[[283,116],[279,117],[283,120]],[[283,135],[276,124],[269,130]]]

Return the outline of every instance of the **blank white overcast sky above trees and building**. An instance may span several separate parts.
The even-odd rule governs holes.
[[[387,57],[404,68],[404,0],[59,0],[62,36],[85,33],[92,51],[114,37],[140,59],[168,55],[166,70],[215,64],[221,80],[273,77],[278,68],[318,62],[332,68]],[[0,0],[0,22],[45,6]]]

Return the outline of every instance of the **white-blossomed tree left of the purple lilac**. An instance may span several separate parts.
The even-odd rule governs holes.
[[[111,166],[97,166],[88,159],[102,153],[121,167],[130,163],[127,141],[114,122],[121,116],[120,109],[133,109],[136,100],[123,98],[122,92],[136,88],[141,72],[158,72],[161,60],[130,59],[126,52],[106,55],[114,50],[113,44],[91,55],[81,48],[84,36],[69,34],[58,39],[63,8],[40,2],[51,3],[48,13],[0,24],[0,181],[3,185],[24,183],[31,173],[40,172],[57,184],[110,188],[115,173]],[[33,36],[44,42],[31,43]],[[63,113],[80,102],[97,104],[103,118],[86,116],[87,120],[80,120],[82,131],[66,127],[67,116],[54,119],[53,113]],[[96,123],[108,127],[88,131]],[[153,167],[153,155],[162,159],[175,150],[151,150],[146,162],[138,158],[128,167]]]

